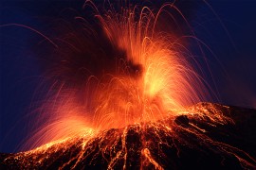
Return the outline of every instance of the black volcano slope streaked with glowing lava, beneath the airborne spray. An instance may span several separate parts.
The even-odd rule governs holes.
[[[215,121],[210,114],[222,114]],[[256,110],[198,103],[175,117],[14,154],[1,169],[255,169]]]

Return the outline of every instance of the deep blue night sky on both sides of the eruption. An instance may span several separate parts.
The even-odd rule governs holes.
[[[256,1],[208,1],[218,17],[201,1],[179,1],[179,8],[189,20],[196,37],[209,47],[204,55],[210,64],[220,102],[256,108]],[[33,114],[44,100],[47,88],[42,59],[35,46],[44,38],[20,24],[52,36],[50,20],[73,8],[82,14],[82,1],[5,1],[0,2],[0,152],[16,152],[26,140]],[[157,4],[158,5],[158,4]],[[83,13],[83,17],[86,17]],[[198,49],[190,48],[195,56]],[[202,65],[203,70],[207,67]],[[42,82],[44,81],[44,86]]]

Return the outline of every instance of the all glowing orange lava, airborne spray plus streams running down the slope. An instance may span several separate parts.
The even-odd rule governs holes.
[[[82,83],[73,88],[66,85],[68,80],[61,83],[57,93],[43,105],[49,117],[31,138],[29,147],[45,145],[5,161],[14,159],[24,167],[40,167],[72,148],[70,160],[60,161],[63,168],[97,166],[99,161],[95,160],[101,157],[101,167],[108,169],[163,169],[165,161],[175,164],[166,158],[170,153],[164,149],[173,149],[179,155],[179,152],[182,154],[180,147],[185,145],[206,153],[216,152],[223,155],[223,159],[236,158],[243,167],[253,167],[255,160],[246,152],[215,142],[207,135],[206,125],[232,125],[229,115],[214,105],[189,108],[206,100],[210,87],[196,73],[196,60],[188,57],[188,49],[182,43],[186,36],[178,37],[161,30],[165,25],[158,20],[162,14],[173,16],[168,9],[187,22],[174,3],[167,3],[156,12],[139,6],[119,7],[118,11],[112,4],[107,6],[101,9],[86,1],[84,7],[94,9],[94,19],[101,31],[77,17],[84,26],[82,37],[71,33],[73,37],[65,35],[63,39],[77,53],[83,51],[82,62],[86,64],[72,72],[66,64],[72,56],[63,54],[60,58],[63,58],[64,69],[56,69],[55,76],[62,76],[64,72],[70,72],[71,76],[77,72],[85,74]],[[116,51],[104,51],[101,42],[95,48],[98,45],[93,41],[95,37],[103,37],[106,46]],[[104,56],[108,54],[112,56]],[[55,88],[53,84],[52,89]],[[201,122],[206,125],[200,125]],[[195,146],[197,142],[201,145]]]

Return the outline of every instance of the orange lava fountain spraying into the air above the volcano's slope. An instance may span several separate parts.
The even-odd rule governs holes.
[[[138,6],[122,7],[115,11],[112,6],[109,4],[109,8],[99,9],[91,1],[84,4],[84,8],[93,8],[94,20],[102,35],[99,36],[85,19],[77,17],[82,20],[82,34],[85,36],[77,38],[80,35],[72,35],[62,39],[78,51],[86,48],[86,53],[81,57],[84,65],[77,68],[86,70],[86,73],[79,76],[82,78],[80,93],[65,87],[70,82],[63,82],[55,96],[49,99],[54,102],[43,105],[43,108],[48,108],[43,114],[50,119],[37,129],[36,135],[30,140],[35,144],[33,147],[84,131],[86,133],[88,128],[97,132],[176,116],[187,106],[209,96],[203,79],[186,57],[188,49],[182,45],[181,38],[157,30],[157,25],[165,25],[158,22],[165,8],[174,8],[179,12],[174,4],[165,4],[157,12]],[[104,56],[103,53],[108,53],[106,51],[109,49],[104,51],[101,45],[88,47],[91,46],[88,42],[97,43],[101,38],[105,39],[104,46],[114,49],[111,56]],[[82,44],[79,46],[76,43]],[[99,53],[99,50],[102,52]],[[74,62],[77,58],[73,56],[62,55],[59,58]],[[66,65],[57,67],[60,68],[50,74],[65,74],[66,68],[62,68]],[[77,72],[82,71],[69,72],[76,76]],[[82,102],[77,101],[79,97]]]

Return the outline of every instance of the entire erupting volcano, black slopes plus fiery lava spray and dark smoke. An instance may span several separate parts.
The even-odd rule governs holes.
[[[44,38],[44,80],[27,151],[0,169],[256,169],[256,110],[198,103],[220,101],[211,50],[176,1],[156,6],[88,0],[52,33],[5,25]]]

